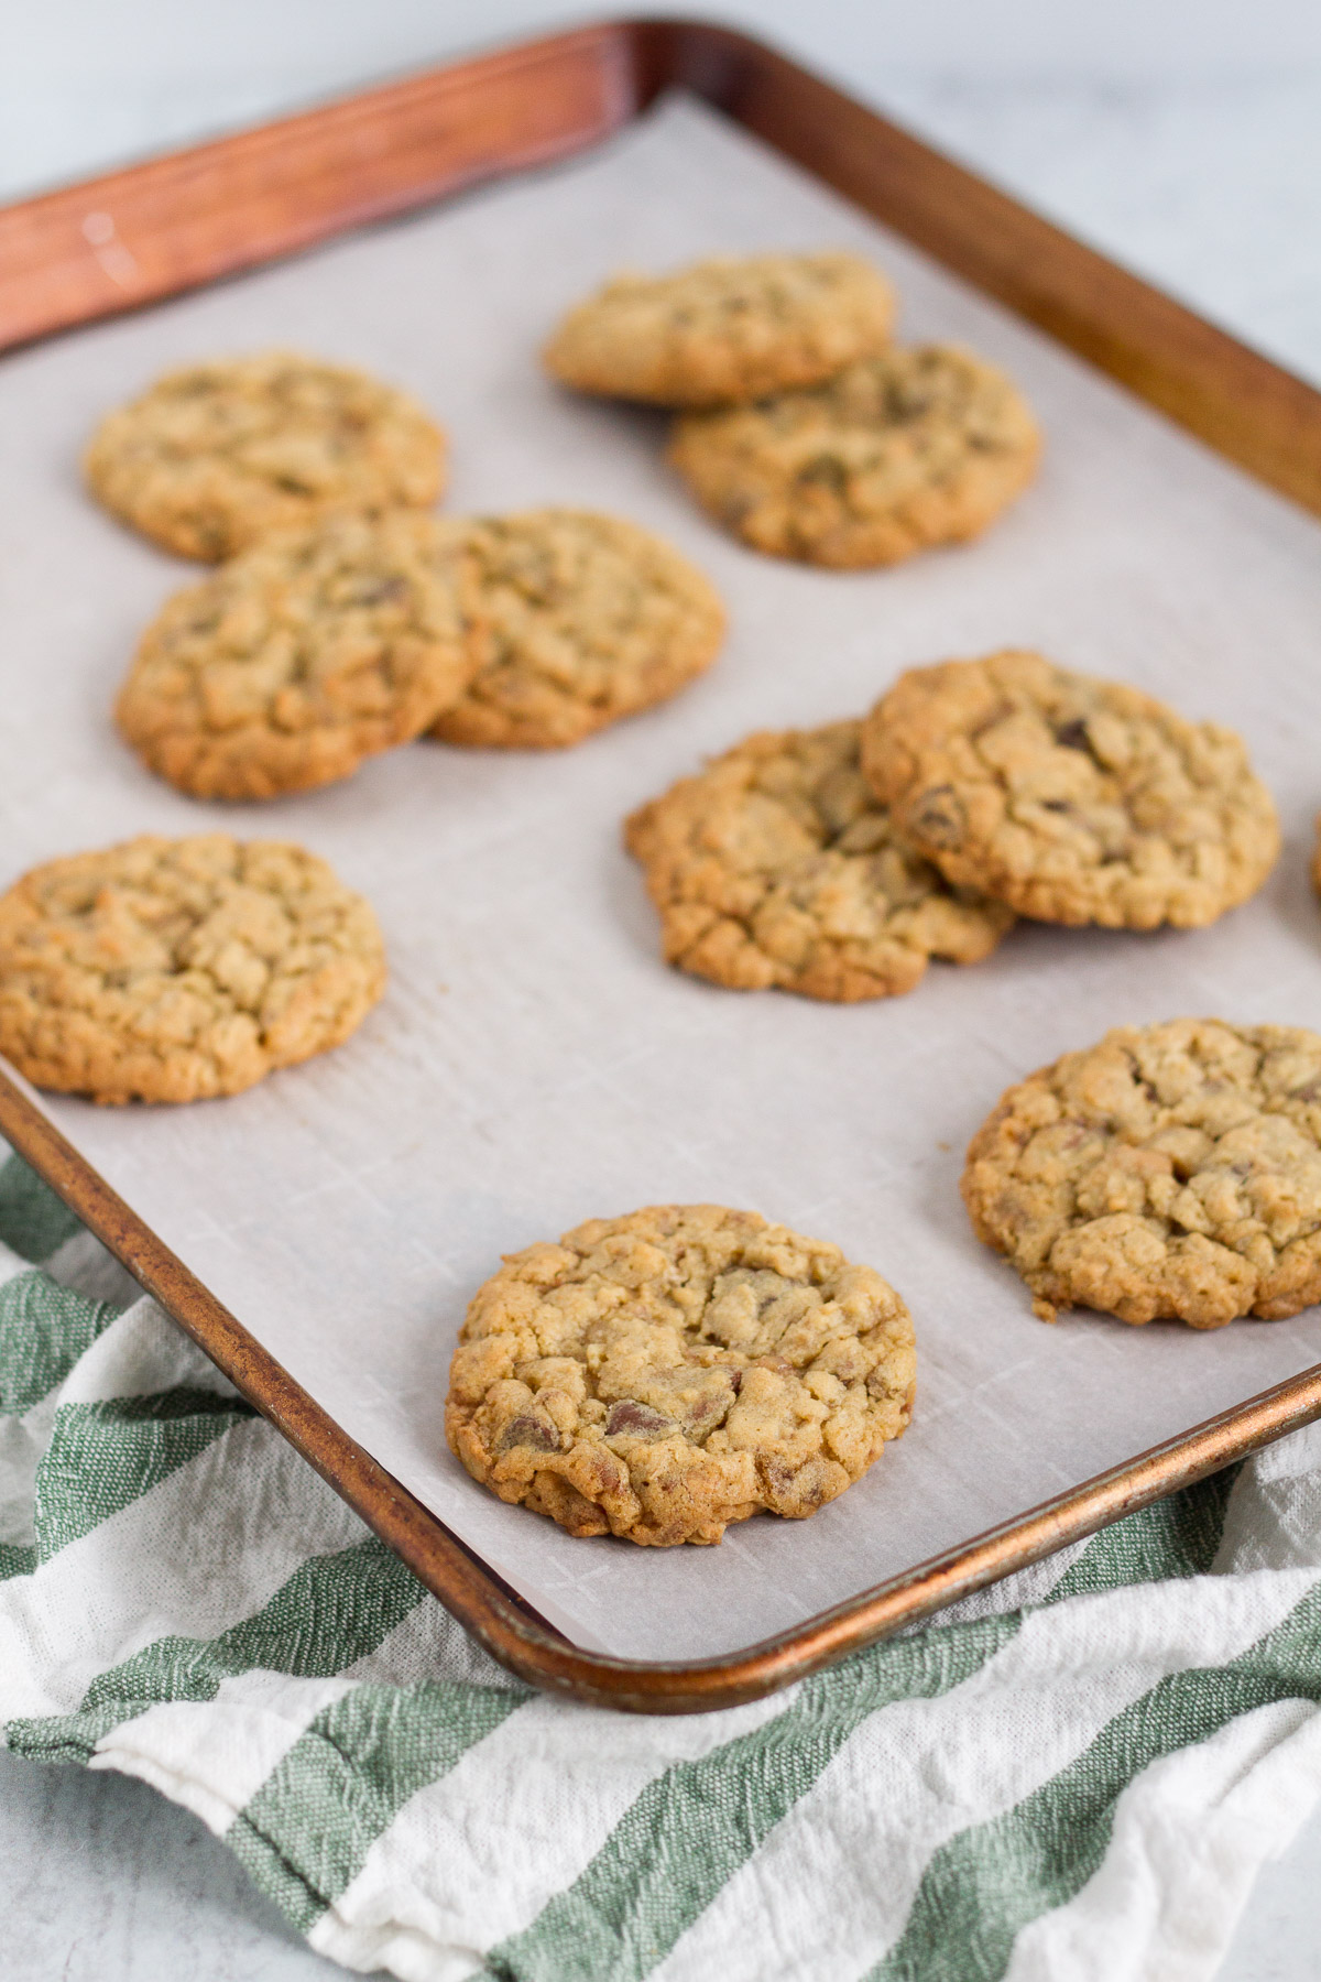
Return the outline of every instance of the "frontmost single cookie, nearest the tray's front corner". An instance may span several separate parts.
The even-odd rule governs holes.
[[[459,1332],[446,1437],[570,1534],[719,1542],[804,1518],[913,1415],[909,1310],[838,1247],[723,1205],[654,1205],[511,1253]]]

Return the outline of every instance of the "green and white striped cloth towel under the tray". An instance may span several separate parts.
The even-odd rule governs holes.
[[[418,1982],[1192,1982],[1321,1794],[1321,1427],[840,1669],[501,1673],[16,1159],[0,1720]]]

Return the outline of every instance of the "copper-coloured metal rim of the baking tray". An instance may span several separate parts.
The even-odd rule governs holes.
[[[545,105],[557,73],[564,117],[557,125],[547,113],[539,127],[527,129],[519,103],[531,85]],[[774,50],[705,22],[618,20],[521,42],[0,210],[0,262],[6,248],[14,250],[10,275],[0,279],[0,349],[143,307],[418,208],[479,178],[570,157],[622,129],[671,85],[697,91],[1222,454],[1321,513],[1321,394]],[[418,139],[412,153],[404,147],[396,159],[390,184],[362,184],[362,174],[351,180],[345,165],[337,178],[331,159],[317,206],[319,186],[305,170],[309,155],[325,163],[327,145],[331,155],[335,147],[343,153],[349,127],[406,129],[414,115],[424,131],[428,117],[442,107],[454,113],[465,93],[471,129],[456,117],[459,139],[446,133],[440,157],[422,157]],[[301,170],[311,188],[303,208],[285,202],[267,220],[254,208],[257,218],[248,232],[226,228],[236,214],[242,220],[254,166],[259,163],[269,176],[271,161],[281,157],[291,182]],[[889,180],[881,184],[885,174]],[[364,176],[370,180],[370,172]],[[190,248],[182,236],[174,238],[180,200],[206,180],[220,188],[212,194],[220,236],[210,248],[196,242]],[[951,200],[963,208],[959,218],[947,210]],[[166,252],[154,262],[147,254],[137,258],[137,285],[125,287],[107,272],[105,258],[97,260],[79,220],[89,208],[127,212],[143,228],[131,236],[135,246],[151,238],[156,214]],[[759,1699],[1321,1417],[1321,1366],[1315,1366],[757,1645],[687,1663],[606,1657],[576,1649],[537,1617],[376,1465],[2,1068],[0,1134],[495,1659],[535,1687],[616,1710],[709,1712]]]

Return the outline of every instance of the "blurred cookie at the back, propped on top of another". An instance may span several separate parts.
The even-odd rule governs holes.
[[[856,254],[759,254],[616,275],[570,309],[547,371],[580,392],[723,406],[816,385],[883,351],[885,277]]]

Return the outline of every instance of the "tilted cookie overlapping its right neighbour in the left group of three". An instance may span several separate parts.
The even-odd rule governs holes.
[[[457,702],[477,668],[469,605],[467,557],[434,517],[327,517],[176,593],[115,719],[194,799],[311,791]]]

